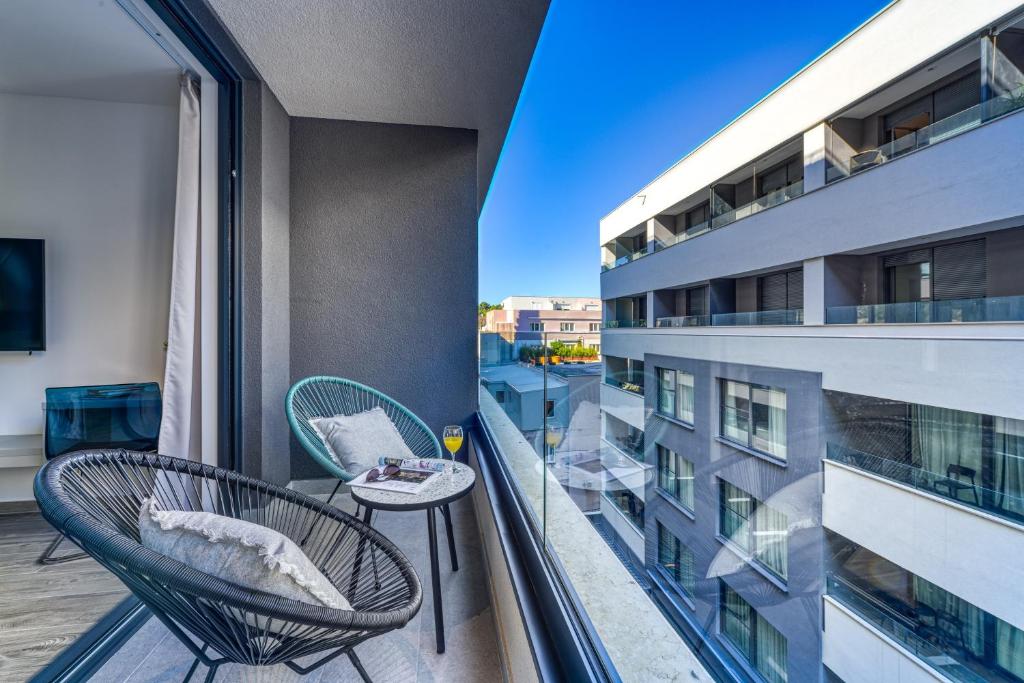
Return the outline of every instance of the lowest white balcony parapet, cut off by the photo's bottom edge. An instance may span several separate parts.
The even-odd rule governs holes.
[[[827,596],[824,616],[821,658],[846,683],[947,680]]]

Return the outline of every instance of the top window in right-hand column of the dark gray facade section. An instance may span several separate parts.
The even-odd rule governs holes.
[[[721,435],[785,460],[785,391],[722,381]]]

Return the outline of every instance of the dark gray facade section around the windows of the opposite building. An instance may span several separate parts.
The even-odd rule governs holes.
[[[657,405],[658,368],[693,375],[692,428],[653,413]],[[719,632],[718,577],[722,577],[785,636],[788,680],[819,680],[823,588],[820,459],[824,453],[820,375],[652,354],[644,356],[644,370],[645,404],[650,415],[644,430],[645,460],[656,467],[658,444],[675,451],[693,463],[695,484],[691,515],[656,492],[655,476],[647,483],[644,496],[647,568],[654,569],[657,564],[657,522],[660,522],[694,554],[696,599],[686,604],[677,598],[680,605],[677,617],[689,629],[712,636],[709,644],[722,650],[720,641],[712,635]],[[787,460],[784,465],[751,455],[718,438],[720,379],[785,390]],[[785,591],[717,538],[719,479],[739,486],[788,516]]]

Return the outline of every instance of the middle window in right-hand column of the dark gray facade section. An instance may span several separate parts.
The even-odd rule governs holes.
[[[719,535],[785,581],[790,545],[785,514],[724,479],[719,479],[718,497]]]

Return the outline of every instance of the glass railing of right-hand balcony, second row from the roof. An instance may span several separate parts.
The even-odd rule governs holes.
[[[1024,321],[1024,296],[829,306],[825,309],[825,323],[829,325],[993,323],[999,321]]]

